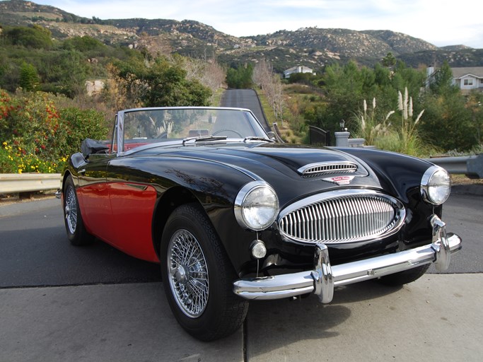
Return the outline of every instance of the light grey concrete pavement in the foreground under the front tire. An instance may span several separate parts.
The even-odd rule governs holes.
[[[330,305],[251,303],[243,329],[211,343],[178,326],[162,283],[5,288],[0,361],[481,361],[482,285],[428,274],[347,286]]]

